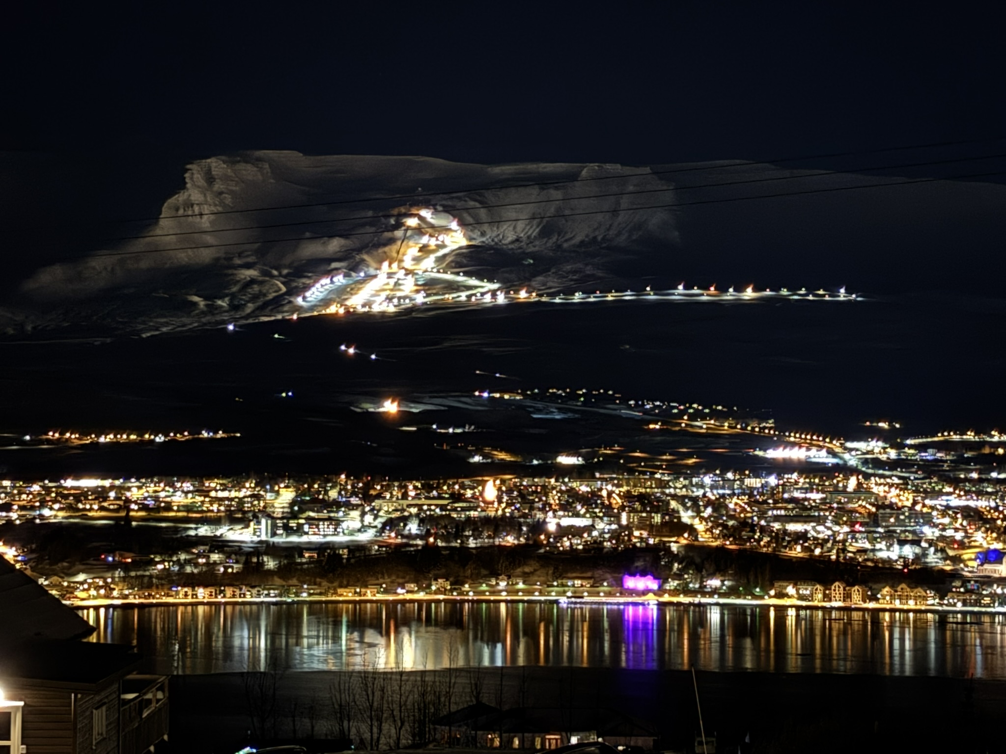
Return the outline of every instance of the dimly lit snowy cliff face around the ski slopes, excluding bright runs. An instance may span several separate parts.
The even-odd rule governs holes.
[[[671,210],[613,210],[672,197],[649,169],[619,165],[214,157],[188,166],[156,221],[26,280],[31,314],[21,324],[153,334],[290,316],[320,275],[361,273],[393,250],[403,213],[416,207],[453,215],[467,233],[446,270],[551,292],[611,277],[611,259],[666,249],[676,240]]]

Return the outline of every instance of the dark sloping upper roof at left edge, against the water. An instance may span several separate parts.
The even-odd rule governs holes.
[[[0,558],[0,646],[27,639],[71,639],[95,627],[27,574]]]

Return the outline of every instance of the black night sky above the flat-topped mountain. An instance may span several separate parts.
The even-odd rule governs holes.
[[[1002,136],[995,3],[22,3],[9,150],[666,163]]]

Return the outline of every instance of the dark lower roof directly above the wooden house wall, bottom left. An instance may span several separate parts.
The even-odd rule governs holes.
[[[139,663],[126,644],[41,639],[0,647],[0,677],[80,691],[121,678]]]

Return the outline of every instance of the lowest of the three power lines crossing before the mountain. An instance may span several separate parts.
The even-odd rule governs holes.
[[[966,180],[970,178],[989,178],[991,176],[1004,175],[1006,171],[997,170],[988,173],[969,173],[965,175],[955,175],[955,176],[944,176],[941,178],[911,178],[908,180],[901,181],[890,181],[887,183],[870,183],[862,184],[858,186],[831,186],[828,188],[820,189],[805,189],[801,191],[787,191],[777,194],[760,194],[758,196],[734,196],[722,199],[700,199],[690,202],[674,202],[670,204],[653,204],[645,207],[615,207],[612,209],[595,209],[586,210],[581,212],[566,212],[554,215],[539,215],[534,217],[515,217],[508,218],[505,220],[479,220],[476,222],[466,222],[465,227],[473,227],[476,225],[498,225],[507,222],[526,222],[530,220],[552,220],[563,217],[584,217],[588,215],[599,215],[599,214],[613,214],[616,212],[640,212],[649,209],[674,209],[676,207],[692,207],[703,204],[724,204],[727,202],[737,202],[737,201],[750,201],[754,199],[775,199],[779,197],[786,196],[804,196],[807,194],[826,194],[835,193],[839,191],[855,191],[859,189],[870,189],[870,188],[887,188],[891,186],[914,186],[923,183],[934,183],[937,181],[955,181],[955,180]],[[472,209],[479,209],[478,207],[473,207]],[[450,226],[448,225],[438,225],[433,227],[424,228],[424,230],[447,230]],[[298,236],[296,238],[272,238],[265,240],[255,240],[255,241],[234,241],[229,243],[209,243],[197,246],[173,246],[170,248],[151,248],[151,249],[134,249],[131,251],[106,251],[102,253],[91,254],[86,257],[73,257],[73,260],[80,261],[86,259],[92,259],[96,257],[105,256],[130,256],[133,254],[147,254],[147,253],[161,253],[165,251],[198,251],[201,249],[209,248],[227,248],[231,246],[256,246],[266,243],[286,243],[291,241],[304,241],[304,240],[324,240],[327,238],[347,238],[352,236],[363,236],[363,235],[383,235],[386,233],[397,232],[398,229],[393,230],[361,230],[348,233],[339,233],[331,235],[314,235],[309,238],[304,236]]]

